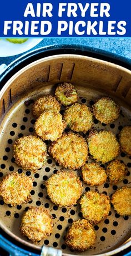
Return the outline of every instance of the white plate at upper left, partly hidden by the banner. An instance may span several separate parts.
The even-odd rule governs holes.
[[[26,52],[38,45],[43,38],[28,38],[24,43],[11,43],[6,38],[0,40],[0,57],[7,57]]]

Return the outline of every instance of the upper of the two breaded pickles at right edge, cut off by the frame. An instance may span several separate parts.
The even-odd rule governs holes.
[[[131,156],[131,126],[123,127],[119,134],[119,141],[121,150]]]

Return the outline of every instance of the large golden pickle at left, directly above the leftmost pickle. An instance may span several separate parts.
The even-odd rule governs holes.
[[[25,170],[37,170],[47,159],[47,146],[34,135],[23,136],[14,142],[13,156]]]

